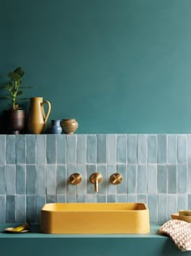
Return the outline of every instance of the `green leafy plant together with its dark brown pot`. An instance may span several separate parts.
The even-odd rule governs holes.
[[[4,125],[8,134],[19,134],[25,126],[25,111],[19,108],[19,102],[27,100],[27,98],[22,98],[22,89],[24,88],[22,78],[24,73],[21,67],[9,72],[7,76],[10,78],[10,81],[2,86],[6,90],[7,95],[0,99],[10,101],[10,109],[3,110]]]

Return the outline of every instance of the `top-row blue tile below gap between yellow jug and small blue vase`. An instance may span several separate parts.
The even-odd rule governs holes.
[[[46,162],[47,164],[56,164],[56,135],[46,135]]]

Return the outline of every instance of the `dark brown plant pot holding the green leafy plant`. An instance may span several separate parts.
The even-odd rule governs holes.
[[[20,134],[25,126],[25,111],[23,109],[4,110],[3,122],[6,134]]]

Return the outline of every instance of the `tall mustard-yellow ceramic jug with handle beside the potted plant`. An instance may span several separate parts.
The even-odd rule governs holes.
[[[48,100],[42,97],[31,98],[29,113],[28,113],[28,130],[32,134],[41,134],[45,130],[45,125],[49,117],[51,105]],[[45,115],[44,105],[48,105],[48,110]]]

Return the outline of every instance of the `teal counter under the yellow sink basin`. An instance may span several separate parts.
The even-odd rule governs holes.
[[[160,225],[151,224],[147,234],[44,234],[32,225],[30,233],[4,233],[11,224],[0,224],[2,256],[180,256],[172,239],[158,233]],[[185,252],[186,256],[191,252]]]

